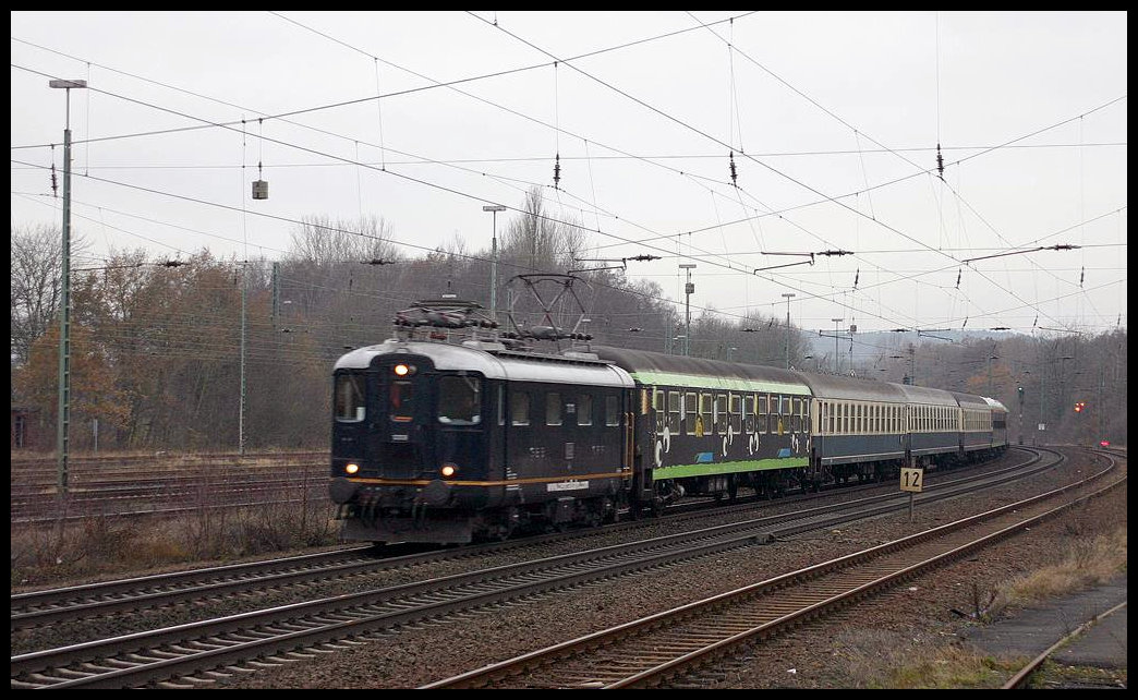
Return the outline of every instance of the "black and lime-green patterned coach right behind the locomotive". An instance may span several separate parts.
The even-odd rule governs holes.
[[[662,508],[685,495],[735,497],[740,486],[776,496],[818,485],[809,460],[810,389],[798,373],[612,347],[593,352],[635,382],[637,500]]]

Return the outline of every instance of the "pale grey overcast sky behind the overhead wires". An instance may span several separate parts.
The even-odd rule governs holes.
[[[661,256],[628,275],[681,307],[695,263],[693,315],[792,293],[811,330],[1127,323],[1124,13],[17,11],[11,38],[13,229],[61,221],[48,81],[85,80],[96,260],[277,260],[308,215],[475,253],[481,207],[537,184],[595,257]],[[963,262],[1055,245],[1082,247]]]

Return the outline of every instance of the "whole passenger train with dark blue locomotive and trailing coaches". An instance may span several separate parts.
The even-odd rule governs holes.
[[[436,338],[445,337],[434,333]],[[506,341],[508,343],[508,341]],[[333,371],[343,538],[468,543],[1007,448],[983,396],[592,346],[394,338]]]

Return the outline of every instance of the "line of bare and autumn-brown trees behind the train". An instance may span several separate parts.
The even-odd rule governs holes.
[[[500,321],[512,308],[522,324],[552,320],[597,344],[674,354],[690,335],[693,356],[780,368],[789,343],[791,365],[813,367],[803,335],[797,328],[787,335],[776,315],[706,310],[687,333],[683,307],[666,299],[660,285],[630,280],[620,265],[582,263],[599,257],[588,232],[549,217],[539,189],[526,193],[520,209],[502,222]],[[453,294],[489,306],[489,247],[471,250],[455,237],[409,255],[393,236],[378,216],[310,216],[294,228],[279,261],[222,260],[208,249],[168,261],[139,249],[73,270],[72,448],[90,451],[98,440],[99,450],[233,450],[242,435],[249,450],[327,447],[337,357],[390,337],[395,313],[417,299]],[[46,452],[55,448],[58,407],[60,258],[58,229],[14,227],[11,404],[38,428],[28,446]],[[572,294],[551,308],[517,279],[583,269],[592,270],[575,273]],[[542,298],[549,305],[554,296],[546,290]],[[588,321],[578,324],[583,316]],[[989,384],[992,355],[999,359],[990,361]],[[1078,362],[1061,360],[1074,356]],[[1102,430],[1124,440],[1124,330],[1057,340],[1013,336],[995,347],[924,345],[914,360],[918,384],[991,395],[1016,415],[1016,389],[1024,386],[1024,422],[1049,421],[1048,436],[1089,430],[1097,413],[1063,406],[1095,389],[1102,395],[1096,409],[1121,405],[1103,414]],[[900,381],[900,364],[859,374]]]

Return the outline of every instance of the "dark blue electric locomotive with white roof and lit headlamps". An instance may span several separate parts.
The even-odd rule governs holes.
[[[632,478],[632,386],[605,362],[493,341],[344,355],[330,486],[343,537],[465,543],[611,519]]]

